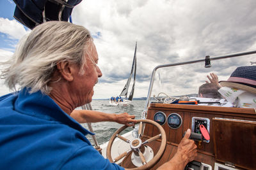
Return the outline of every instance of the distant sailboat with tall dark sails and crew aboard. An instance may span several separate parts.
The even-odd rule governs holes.
[[[137,42],[135,45],[134,57],[133,57],[133,61],[132,61],[132,69],[131,69],[130,76],[129,76],[127,82],[125,83],[124,89],[122,90],[120,95],[118,97],[111,97],[109,99],[109,104],[111,106],[129,106],[129,104],[131,104],[133,94],[134,94],[134,89],[135,89],[135,82],[136,82],[136,64],[137,64],[136,51],[137,51]],[[133,75],[132,90],[127,99],[127,94],[128,94],[128,90],[129,90],[129,85],[132,80],[132,75]]]

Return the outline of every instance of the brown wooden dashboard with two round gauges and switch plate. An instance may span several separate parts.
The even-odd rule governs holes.
[[[168,120],[164,122],[162,127],[166,132],[166,149],[161,160],[151,169],[157,169],[161,164],[172,159],[182,139],[182,134],[188,128],[193,129],[195,118],[209,119],[210,134],[209,143],[195,141],[198,146],[196,161],[208,164],[212,169],[214,169],[215,162],[228,164],[238,169],[256,169],[256,113],[254,109],[154,103],[148,108],[147,118],[154,120],[157,112],[164,113],[166,118],[172,113],[177,113],[182,123],[180,127],[173,129],[168,125]],[[143,139],[146,140],[157,134],[159,132],[156,127],[150,124],[145,125]],[[148,146],[155,153],[159,145],[160,141],[157,140]],[[134,167],[129,161],[123,161],[122,166]]]

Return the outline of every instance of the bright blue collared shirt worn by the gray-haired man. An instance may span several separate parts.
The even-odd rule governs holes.
[[[0,97],[0,169],[124,169],[104,159],[86,134],[41,92]]]

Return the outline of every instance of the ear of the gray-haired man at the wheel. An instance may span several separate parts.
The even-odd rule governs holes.
[[[74,64],[71,64],[67,61],[61,61],[57,64],[57,69],[61,76],[67,81],[73,81],[74,80]]]

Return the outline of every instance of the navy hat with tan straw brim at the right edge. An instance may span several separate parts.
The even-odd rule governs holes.
[[[237,67],[227,81],[220,81],[220,85],[256,94],[256,66]]]

